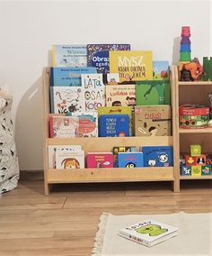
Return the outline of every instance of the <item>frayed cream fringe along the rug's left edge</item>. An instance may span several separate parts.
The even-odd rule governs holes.
[[[108,221],[108,217],[110,216],[110,213],[103,213],[100,217],[100,224],[98,224],[98,232],[96,233],[95,239],[94,239],[94,247],[93,247],[93,256],[101,256],[102,254],[102,245],[104,240],[104,233],[106,224]]]

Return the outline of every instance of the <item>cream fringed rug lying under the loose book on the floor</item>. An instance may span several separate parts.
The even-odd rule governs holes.
[[[179,228],[179,234],[148,248],[118,235],[119,229],[145,219]],[[212,256],[212,214],[101,216],[93,256]]]

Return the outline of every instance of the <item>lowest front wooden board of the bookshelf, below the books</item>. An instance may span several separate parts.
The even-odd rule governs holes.
[[[48,183],[129,182],[173,180],[172,167],[113,169],[49,169]]]

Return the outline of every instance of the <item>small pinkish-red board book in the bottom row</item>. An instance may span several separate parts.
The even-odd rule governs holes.
[[[87,168],[112,168],[113,155],[111,152],[88,152],[86,162]]]

